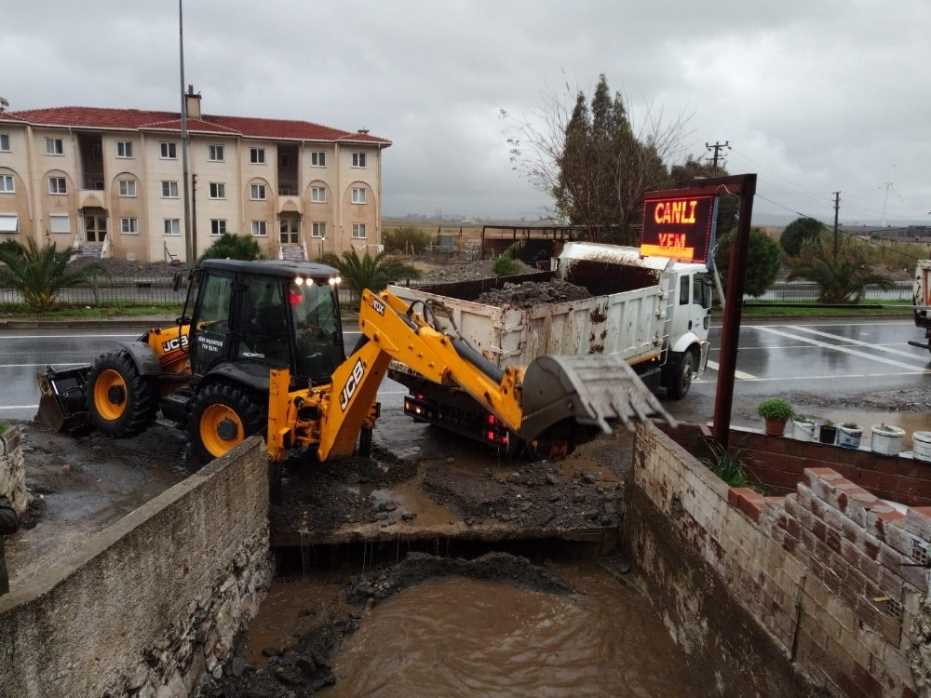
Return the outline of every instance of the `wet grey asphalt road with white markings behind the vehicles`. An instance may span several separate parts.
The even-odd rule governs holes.
[[[709,371],[682,403],[677,416],[705,419],[713,411],[719,356],[719,329],[711,333]],[[0,418],[30,419],[38,390],[35,372],[87,363],[121,339],[132,339],[134,327],[112,330],[0,331]],[[344,333],[347,351],[358,332]],[[927,386],[931,389],[931,353],[911,347],[919,339],[910,321],[817,321],[780,324],[746,323],[741,330],[735,399],[762,399],[789,391],[857,394]],[[379,392],[385,407],[400,406],[404,386],[386,380]]]

